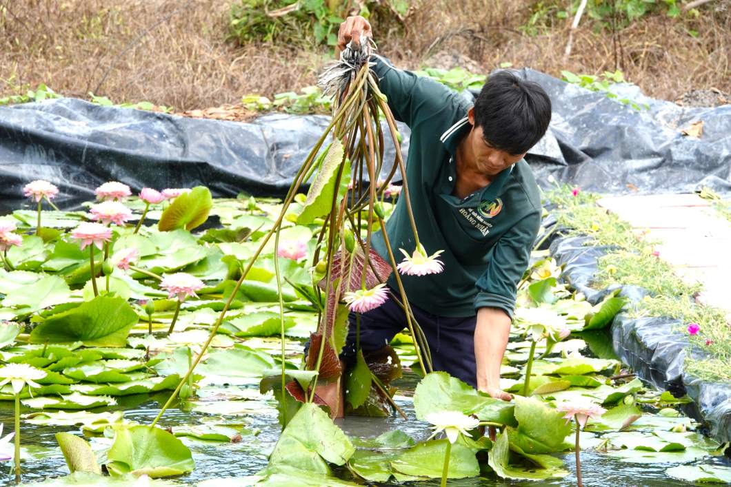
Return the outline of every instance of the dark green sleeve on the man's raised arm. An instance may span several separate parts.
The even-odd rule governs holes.
[[[396,120],[409,128],[418,120],[425,120],[437,112],[459,102],[459,95],[447,86],[428,77],[397,69],[386,58],[372,55],[379,89],[385,94],[388,107]]]

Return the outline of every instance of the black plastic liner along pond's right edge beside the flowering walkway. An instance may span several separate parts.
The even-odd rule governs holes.
[[[591,283],[598,270],[597,261],[610,249],[586,245],[589,237],[558,237],[551,242],[550,253],[558,265],[564,265],[562,277],[577,291],[596,304],[620,286],[596,290]],[[639,302],[648,291],[637,286],[621,286],[620,296]],[[720,442],[731,441],[731,384],[714,383],[689,375],[685,371],[688,353],[693,358],[707,356],[694,348],[681,331],[685,323],[667,317],[631,318],[619,313],[611,325],[613,348],[624,364],[637,376],[657,388],[680,397],[688,394],[693,403],[684,410],[708,424],[708,434]]]

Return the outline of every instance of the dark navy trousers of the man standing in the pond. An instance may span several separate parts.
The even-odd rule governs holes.
[[[394,294],[393,290],[390,294]],[[431,348],[433,369],[448,372],[452,377],[477,387],[477,365],[474,361],[477,315],[449,318],[433,315],[413,304],[412,310]],[[343,350],[343,358],[348,362],[355,357],[355,316],[355,313],[350,313],[348,339]],[[360,348],[364,352],[378,350],[388,345],[406,326],[404,310],[393,299],[388,299],[376,309],[360,315]]]

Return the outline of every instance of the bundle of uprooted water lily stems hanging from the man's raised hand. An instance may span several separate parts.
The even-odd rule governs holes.
[[[291,210],[290,207],[295,202],[295,195],[300,188],[313,176],[307,197],[301,204],[297,216],[299,224],[320,226],[317,250],[312,262],[313,285],[308,289],[298,289],[300,294],[308,296],[319,310],[319,325],[317,331],[310,337],[305,370],[292,371],[285,368],[282,277],[279,273],[279,261],[277,258],[274,259],[281,318],[281,388],[278,392],[281,393],[279,399],[282,404],[287,404],[292,398],[300,402],[321,403],[315,394],[315,386],[341,380],[342,370],[338,354],[345,345],[349,312],[367,311],[386,299],[388,288],[385,281],[393,269],[397,268],[397,264],[385,232],[383,201],[384,192],[397,169],[401,171],[403,181],[401,199],[404,201],[400,204],[406,204],[417,252],[421,248],[409,201],[406,167],[399,149],[400,137],[385,96],[379,91],[368,62],[373,48],[370,39],[366,39],[357,47],[349,45],[341,52],[339,61],[328,66],[322,74],[320,85],[323,91],[335,98],[333,118],[295,175],[295,181],[289,188],[273,228],[260,239],[257,252],[248,264],[243,266],[241,277],[213,325],[208,340],[153,424],[159,421],[167,407],[170,407],[178,396],[183,384],[189,380],[224,321],[224,316],[244,277],[271,237],[275,239],[276,255],[279,249],[279,232],[283,223],[287,225],[285,215]],[[385,119],[386,133],[380,122],[382,118]],[[332,142],[321,150],[329,137],[332,138]],[[376,184],[384,162],[385,137],[393,139],[395,161],[385,180]],[[292,208],[299,210],[297,207]],[[371,248],[371,239],[377,229],[382,231],[390,263]],[[431,371],[431,358],[426,340],[414,320],[398,272],[394,273],[394,277],[401,299],[396,297],[393,299],[397,299],[404,309],[406,326],[414,339],[420,367],[426,373]],[[356,320],[356,327],[357,337],[360,332],[359,320]],[[376,394],[398,409],[391,399],[393,392],[390,393],[387,387],[387,382],[394,377],[393,371],[379,374],[378,367],[375,367],[374,374],[368,369],[357,339],[356,350],[356,370],[348,377],[348,389],[351,394],[349,403],[357,409],[366,403],[368,396],[372,398]],[[380,358],[382,362],[389,364],[394,360],[398,361],[395,353],[381,354]],[[371,364],[371,367],[373,365]],[[287,397],[287,394],[291,397]],[[281,412],[284,415],[282,422],[286,424],[287,407],[282,407]]]

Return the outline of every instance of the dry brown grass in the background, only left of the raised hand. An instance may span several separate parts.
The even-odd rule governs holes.
[[[314,80],[312,56],[226,42],[220,0],[0,0],[0,78],[178,110]],[[112,6],[110,6],[112,5]],[[0,92],[9,85],[0,83]]]

